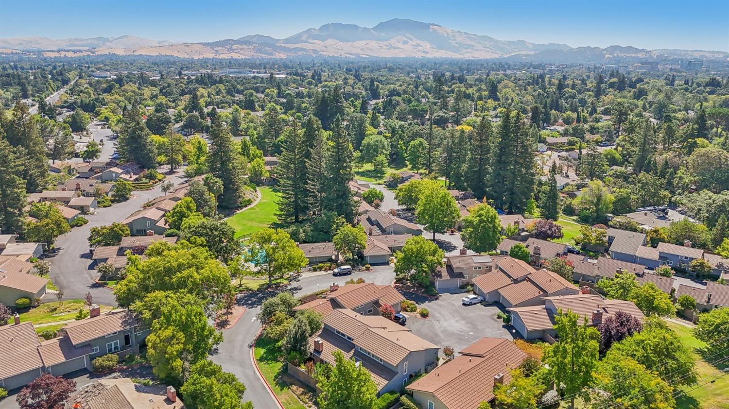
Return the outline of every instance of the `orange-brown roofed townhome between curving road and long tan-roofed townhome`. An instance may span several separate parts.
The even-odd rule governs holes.
[[[362,315],[379,315],[382,305],[390,305],[396,313],[400,312],[405,297],[389,285],[374,283],[332,284],[329,292],[322,298],[311,300],[294,307],[294,311],[313,309],[327,316],[336,308],[348,308]]]

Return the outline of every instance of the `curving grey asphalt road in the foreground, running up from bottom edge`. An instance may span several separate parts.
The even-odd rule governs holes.
[[[373,266],[373,270],[357,271],[350,276],[334,277],[331,273],[305,276],[293,281],[285,290],[292,291],[295,295],[305,295],[317,289],[325,289],[332,283],[344,284],[350,278],[356,280],[360,277],[376,284],[390,284],[394,279],[394,271],[389,265],[376,265]],[[223,330],[224,340],[211,356],[213,362],[221,365],[223,370],[233,373],[246,385],[243,399],[251,400],[254,408],[273,409],[277,406],[266,386],[258,378],[250,359],[252,342],[261,327],[256,315],[263,300],[276,294],[275,291],[268,291],[240,295],[238,305],[245,306],[246,312],[233,328]]]

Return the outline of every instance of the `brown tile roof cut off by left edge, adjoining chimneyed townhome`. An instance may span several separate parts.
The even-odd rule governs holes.
[[[0,379],[42,367],[40,344],[30,322],[0,327]]]

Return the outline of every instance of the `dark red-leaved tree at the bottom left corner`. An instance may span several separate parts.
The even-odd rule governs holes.
[[[28,383],[15,401],[22,409],[63,409],[63,402],[75,390],[76,381],[45,373]]]

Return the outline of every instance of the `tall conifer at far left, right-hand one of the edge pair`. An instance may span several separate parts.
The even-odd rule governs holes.
[[[26,104],[18,101],[13,107],[5,136],[20,161],[17,175],[26,181],[26,191],[42,190],[48,177],[48,160],[38,125]]]

